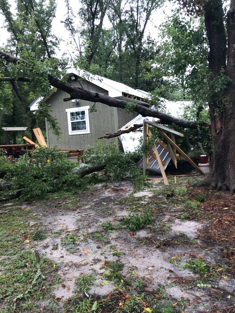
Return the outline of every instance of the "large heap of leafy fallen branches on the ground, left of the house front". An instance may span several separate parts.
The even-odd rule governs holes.
[[[31,154],[24,154],[15,164],[8,164],[0,157],[0,170],[6,170],[5,179],[13,182],[12,190],[21,190],[21,199],[44,196],[58,190],[82,190],[86,179],[72,173],[74,164],[64,153],[48,148],[38,148]]]

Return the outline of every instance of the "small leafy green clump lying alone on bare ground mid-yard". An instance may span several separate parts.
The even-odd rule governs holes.
[[[154,217],[151,213],[138,214],[131,213],[122,221],[122,225],[127,226],[130,231],[140,230],[146,225],[149,225],[154,220]]]

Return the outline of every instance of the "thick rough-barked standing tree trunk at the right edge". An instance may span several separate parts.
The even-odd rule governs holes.
[[[205,6],[205,25],[210,45],[210,80],[226,70],[226,34],[223,23],[222,1],[210,1]],[[209,102],[214,165],[209,177],[200,185],[211,189],[235,192],[235,0],[228,11],[228,64],[227,76],[231,79],[224,97],[212,93]],[[225,72],[224,72],[225,74]],[[213,86],[210,84],[213,91]]]

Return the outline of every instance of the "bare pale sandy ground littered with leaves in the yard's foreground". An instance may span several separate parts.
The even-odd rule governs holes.
[[[158,186],[155,182],[154,187]],[[168,227],[166,232],[158,233],[152,223],[152,227],[147,226],[132,234],[126,227],[118,228],[120,221],[131,213],[128,206],[122,203],[122,199],[129,197],[132,191],[132,183],[129,181],[120,184],[115,182],[107,187],[100,184],[78,195],[77,202],[74,203],[69,203],[66,199],[51,198],[26,206],[25,209],[32,210],[37,218],[37,222],[32,222],[29,226],[36,229],[41,225],[47,232],[45,240],[30,242],[30,245],[40,255],[58,264],[61,284],[66,286],[64,288],[60,285],[56,288],[53,296],[63,301],[70,298],[75,294],[76,278],[88,273],[94,273],[96,280],[87,293],[108,295],[114,284],[112,281],[108,285],[102,284],[104,278],[100,277],[105,271],[100,268],[108,260],[124,264],[124,277],[129,275],[130,269],[134,269],[138,277],[147,284],[148,290],[163,286],[172,302],[179,299],[187,301],[188,305],[183,312],[225,312],[224,308],[232,308],[235,304],[235,280],[224,276],[209,282],[212,287],[217,287],[199,288],[190,284],[191,280],[196,280],[197,275],[181,267],[188,259],[196,259],[198,256],[212,264],[220,263],[220,247],[205,246],[199,239],[206,222],[172,218],[172,213],[165,208],[156,214],[154,223],[158,225],[160,221],[164,221]],[[131,197],[140,197],[141,207],[141,203],[151,200],[153,193],[144,191]],[[101,230],[105,221],[117,226],[116,229],[105,232],[105,242],[99,238],[94,239],[92,234]],[[66,234],[73,233],[76,233],[78,240],[73,244],[74,251],[71,253],[61,239]],[[83,240],[84,235],[86,240]],[[192,244],[184,244],[185,238],[187,242],[191,240]],[[182,244],[173,244],[177,239],[182,239]],[[119,257],[112,255],[113,249],[120,251]],[[173,256],[177,256],[177,265],[169,262]]]

